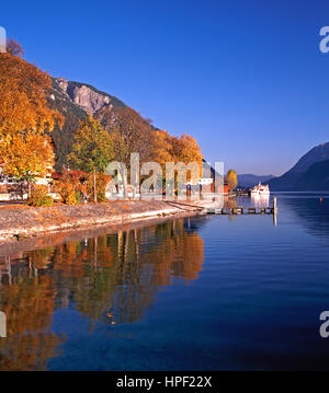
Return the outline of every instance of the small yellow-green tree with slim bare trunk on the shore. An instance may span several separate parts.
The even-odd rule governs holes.
[[[97,203],[97,173],[104,172],[113,160],[113,145],[106,130],[92,115],[80,122],[75,134],[72,151],[68,157],[73,169],[93,174],[93,199]]]

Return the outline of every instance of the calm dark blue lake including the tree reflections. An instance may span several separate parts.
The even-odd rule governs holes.
[[[0,257],[0,370],[329,369],[329,195],[277,205]]]

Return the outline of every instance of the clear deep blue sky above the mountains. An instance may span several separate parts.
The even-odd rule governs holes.
[[[328,1],[32,0],[0,11],[26,60],[193,135],[226,170],[280,175],[329,141]]]

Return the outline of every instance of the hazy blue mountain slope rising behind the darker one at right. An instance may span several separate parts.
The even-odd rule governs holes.
[[[313,148],[305,155],[303,155],[290,171],[280,177],[272,178],[269,182],[270,188],[272,190],[297,189],[297,187],[300,187],[300,185],[298,185],[299,178],[306,174],[308,169],[310,169],[313,164],[325,160],[329,160],[329,142],[321,143]]]

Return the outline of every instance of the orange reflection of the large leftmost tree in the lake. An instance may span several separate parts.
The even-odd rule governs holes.
[[[57,355],[56,348],[64,339],[49,332],[55,310],[54,280],[38,275],[30,263],[29,267],[12,265],[5,257],[0,265],[0,310],[7,315],[7,338],[0,339],[0,370],[45,370],[47,359]]]

